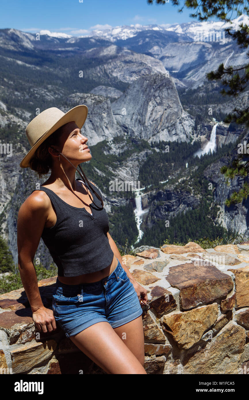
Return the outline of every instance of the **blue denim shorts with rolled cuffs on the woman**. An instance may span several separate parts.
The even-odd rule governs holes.
[[[97,322],[117,328],[142,315],[134,286],[117,261],[112,274],[98,282],[66,285],[57,278],[52,310],[68,338]]]

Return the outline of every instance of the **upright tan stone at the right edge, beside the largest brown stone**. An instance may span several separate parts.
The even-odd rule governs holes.
[[[235,274],[236,308],[249,306],[249,266],[230,268],[228,271]]]

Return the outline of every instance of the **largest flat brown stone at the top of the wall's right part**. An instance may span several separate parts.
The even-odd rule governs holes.
[[[183,310],[227,296],[233,289],[231,276],[213,265],[198,266],[195,262],[170,267],[165,278],[173,288],[180,290],[179,298]]]

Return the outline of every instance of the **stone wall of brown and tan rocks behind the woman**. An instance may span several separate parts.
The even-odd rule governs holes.
[[[203,250],[194,242],[125,255],[147,289],[147,374],[249,374],[249,241]],[[56,277],[38,283],[51,308]],[[13,374],[106,374],[58,327],[34,326],[24,289],[0,295],[0,368]],[[5,370],[2,370],[5,371]]]

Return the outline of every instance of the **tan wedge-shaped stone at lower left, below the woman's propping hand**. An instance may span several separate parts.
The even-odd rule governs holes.
[[[29,342],[10,350],[13,374],[23,374],[44,361],[48,361],[57,343],[49,340],[44,343]]]

